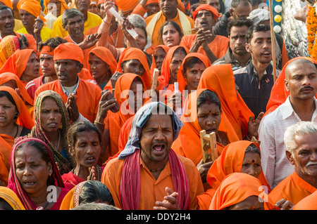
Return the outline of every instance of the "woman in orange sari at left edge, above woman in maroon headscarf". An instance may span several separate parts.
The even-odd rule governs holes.
[[[34,122],[18,93],[13,88],[0,86],[0,154],[10,170],[10,154],[15,138],[27,136]],[[1,178],[8,184],[8,176]]]

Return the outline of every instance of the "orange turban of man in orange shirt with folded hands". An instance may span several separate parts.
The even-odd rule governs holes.
[[[84,65],[85,57],[84,53],[82,53],[82,48],[68,42],[55,48],[54,60],[77,60]]]

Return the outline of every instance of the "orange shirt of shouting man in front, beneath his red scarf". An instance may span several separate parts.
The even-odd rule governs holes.
[[[201,183],[201,178],[196,166],[187,158],[180,157],[180,162],[185,167],[187,177],[189,179],[189,197],[190,197],[190,209],[196,209],[196,197],[204,192],[204,187]],[[121,173],[123,171],[123,164],[125,159],[111,159],[102,173],[101,182],[104,183],[111,192],[115,206],[121,208],[120,204],[120,180]],[[163,198],[167,195],[165,188],[173,188],[172,176],[170,173],[170,163],[167,162],[164,169],[161,171],[159,178],[156,180],[151,172],[144,164],[140,157],[140,169],[141,169],[141,191],[139,199],[139,210],[153,209],[156,201],[163,201]]]

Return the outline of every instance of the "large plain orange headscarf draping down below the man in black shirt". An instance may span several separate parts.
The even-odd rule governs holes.
[[[215,91],[221,101],[221,108],[228,117],[240,140],[247,135],[249,117],[254,114],[235,90],[235,79],[231,65],[213,65],[201,74],[199,88]]]

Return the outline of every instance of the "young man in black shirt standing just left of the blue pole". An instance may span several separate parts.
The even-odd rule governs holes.
[[[274,84],[270,30],[268,25],[255,25],[249,28],[245,48],[251,53],[251,62],[233,72],[238,91],[255,117],[263,116],[266,112]],[[276,73],[278,76],[280,70]]]

